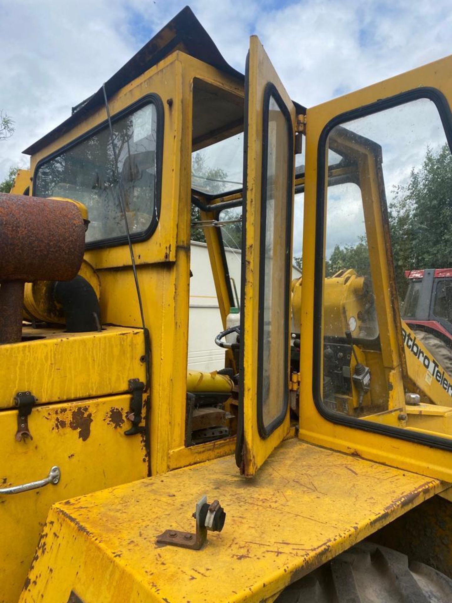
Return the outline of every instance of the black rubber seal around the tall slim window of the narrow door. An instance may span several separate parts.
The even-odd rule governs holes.
[[[264,332],[264,289],[265,289],[265,235],[267,215],[267,165],[268,165],[268,124],[270,100],[274,99],[287,127],[287,192],[286,192],[286,262],[284,274],[284,400],[280,414],[268,425],[265,425],[263,417],[263,332]],[[277,429],[287,414],[289,407],[289,338],[290,338],[290,274],[292,271],[292,260],[290,258],[290,247],[292,237],[292,178],[293,178],[293,131],[289,110],[286,107],[277,87],[268,82],[263,94],[263,118],[262,118],[262,174],[261,174],[261,197],[260,197],[260,235],[259,235],[259,323],[257,343],[257,428],[260,437],[265,440]],[[242,252],[243,253],[243,252]],[[289,261],[290,260],[290,261]]]

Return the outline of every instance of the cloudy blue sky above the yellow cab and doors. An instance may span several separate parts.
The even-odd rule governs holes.
[[[119,69],[184,2],[0,0],[0,180],[24,150]],[[293,99],[312,106],[452,52],[451,0],[193,0],[226,60],[244,71],[257,34]]]

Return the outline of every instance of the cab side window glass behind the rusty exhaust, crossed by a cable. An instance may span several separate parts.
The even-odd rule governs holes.
[[[158,219],[163,124],[148,103],[113,120],[118,171],[124,189],[127,223],[133,238],[150,234]],[[66,197],[87,206],[86,242],[121,242],[125,236],[118,178],[107,125],[38,166],[34,194]]]

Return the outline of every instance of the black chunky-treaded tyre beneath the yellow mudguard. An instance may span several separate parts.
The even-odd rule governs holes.
[[[451,603],[452,580],[363,541],[291,584],[275,603]]]

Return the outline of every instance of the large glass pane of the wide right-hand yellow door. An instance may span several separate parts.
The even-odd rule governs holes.
[[[417,98],[341,122],[329,131],[325,157],[321,408],[333,420],[372,421],[404,430],[404,437],[421,429],[452,438],[450,408],[441,420],[438,407],[434,420],[425,416],[432,405],[452,406],[452,375],[430,347],[438,333],[410,321],[421,282],[409,288],[406,276],[450,264],[452,158],[436,104]],[[398,298],[383,285],[391,281],[391,259]],[[446,291],[437,294],[439,311],[447,300]],[[407,374],[391,336],[394,317],[401,320]],[[452,329],[450,337],[452,359]],[[412,393],[418,397],[406,397]],[[416,405],[406,403],[413,399]]]

